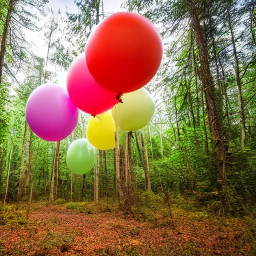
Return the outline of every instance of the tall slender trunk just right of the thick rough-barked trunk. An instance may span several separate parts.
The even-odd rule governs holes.
[[[232,45],[233,45],[233,53],[234,53],[234,61],[235,61],[235,75],[236,75],[236,84],[238,88],[238,107],[239,107],[239,115],[240,115],[240,126],[241,126],[241,148],[244,149],[245,146],[245,115],[243,111],[243,101],[242,101],[242,88],[241,88],[241,79],[240,79],[240,71],[239,71],[239,62],[238,62],[238,57],[237,57],[237,52],[236,52],[236,47],[235,47],[235,39],[234,39],[234,34],[233,34],[233,29],[232,29],[232,24],[231,24],[231,19],[230,15],[228,12],[228,25],[231,33],[231,40],[232,40]]]

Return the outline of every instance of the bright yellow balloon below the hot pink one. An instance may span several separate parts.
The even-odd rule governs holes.
[[[88,141],[98,149],[115,147],[115,123],[111,110],[91,117],[86,129]]]

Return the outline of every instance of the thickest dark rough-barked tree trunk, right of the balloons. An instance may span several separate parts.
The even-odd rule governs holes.
[[[207,96],[207,111],[209,116],[209,124],[211,126],[212,140],[217,156],[217,167],[219,176],[226,182],[225,172],[225,159],[226,151],[228,149],[228,140],[224,134],[222,123],[219,121],[215,96],[214,96],[214,84],[210,72],[208,55],[207,55],[207,43],[203,35],[202,28],[200,27],[200,21],[198,19],[196,10],[194,10],[194,30],[195,39],[198,46],[200,72],[202,86]]]

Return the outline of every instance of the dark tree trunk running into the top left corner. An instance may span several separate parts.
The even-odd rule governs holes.
[[[0,83],[2,82],[2,67],[3,67],[3,63],[4,63],[6,39],[7,39],[7,34],[8,34],[8,27],[9,27],[12,7],[13,7],[13,0],[10,0],[4,27],[3,27],[3,32],[2,32],[2,36],[1,36],[1,44],[0,44]]]

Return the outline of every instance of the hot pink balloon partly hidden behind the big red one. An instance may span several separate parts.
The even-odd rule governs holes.
[[[118,102],[115,92],[99,86],[91,76],[84,52],[68,68],[66,86],[74,105],[92,115],[103,113]]]

